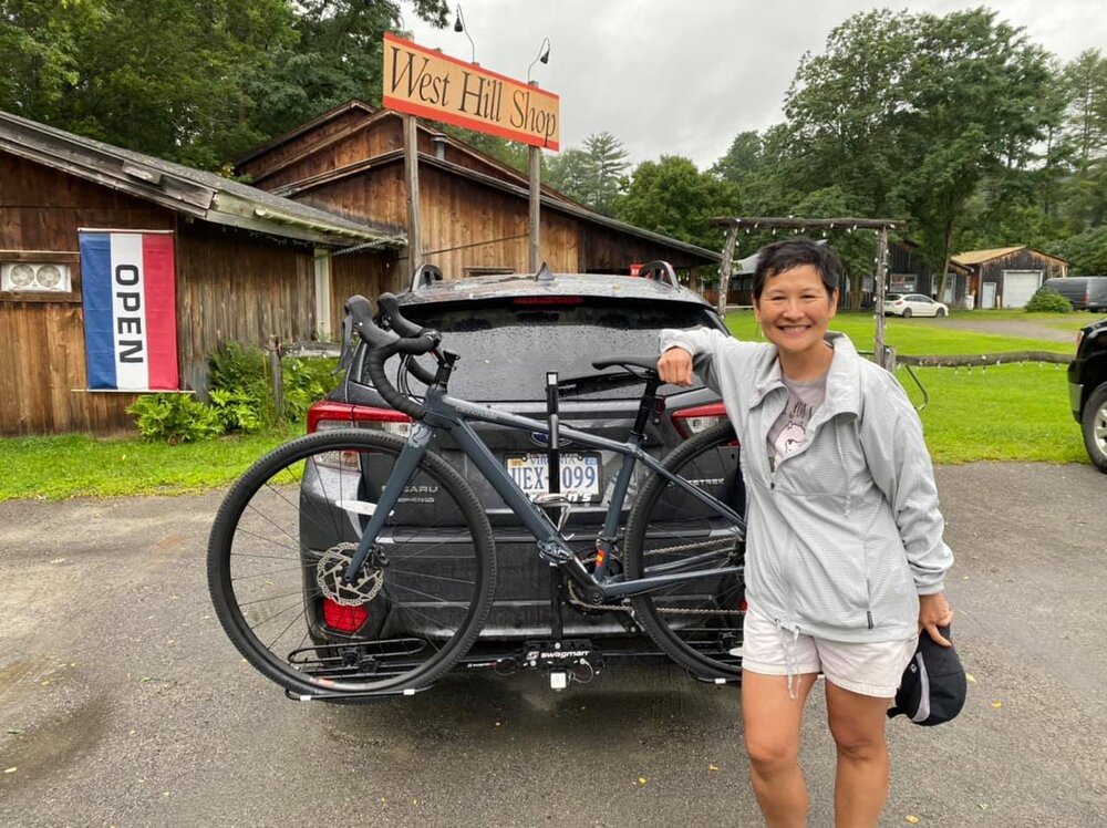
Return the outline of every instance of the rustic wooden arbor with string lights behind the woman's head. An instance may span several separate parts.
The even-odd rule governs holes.
[[[718,313],[726,311],[726,294],[731,283],[731,267],[734,263],[734,250],[737,246],[738,230],[873,230],[877,234],[877,279],[876,281],[876,320],[877,330],[873,352],[879,364],[891,370],[896,364],[896,355],[884,345],[884,277],[888,268],[888,231],[906,227],[906,222],[889,218],[777,218],[755,217],[735,218],[717,217],[710,221],[712,227],[725,227],[726,240],[723,242],[723,263],[718,269]]]

